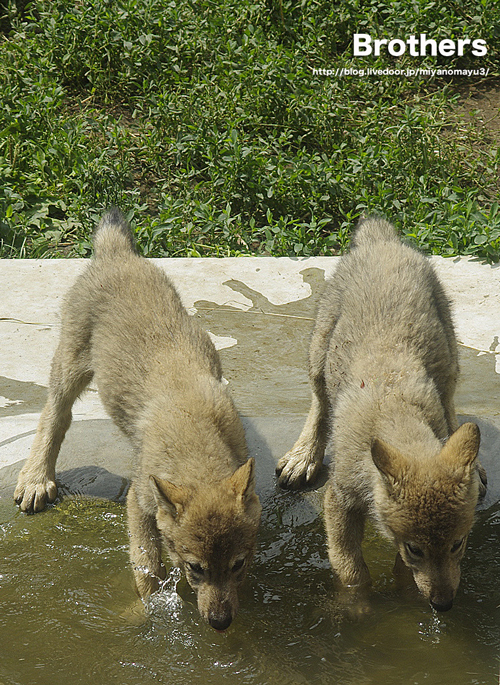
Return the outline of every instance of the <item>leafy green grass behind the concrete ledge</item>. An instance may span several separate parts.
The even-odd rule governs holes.
[[[336,254],[376,212],[428,253],[500,259],[499,141],[457,126],[489,0],[0,1],[0,256],[90,254],[119,205],[148,256]],[[354,32],[483,38],[474,58],[352,58]],[[488,82],[483,84],[487,87]]]

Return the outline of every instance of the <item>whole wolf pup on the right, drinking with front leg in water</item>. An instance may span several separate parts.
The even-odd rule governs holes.
[[[479,429],[458,426],[457,343],[429,261],[387,222],[362,221],[319,305],[310,347],[312,406],[279,483],[314,480],[331,440],[328,553],[344,587],[370,574],[361,551],[370,515],[438,611],[451,608],[460,560],[486,490]]]

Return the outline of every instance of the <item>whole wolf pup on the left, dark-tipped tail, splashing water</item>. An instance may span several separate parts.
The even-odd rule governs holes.
[[[155,592],[166,577],[164,543],[202,617],[225,630],[254,554],[261,506],[219,356],[170,280],[136,253],[118,210],[103,217],[94,249],[64,304],[47,404],[14,498],[27,512],[55,499],[71,407],[94,378],[137,459],[127,514],[139,594]]]

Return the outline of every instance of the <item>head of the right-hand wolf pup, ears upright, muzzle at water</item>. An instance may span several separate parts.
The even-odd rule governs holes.
[[[379,522],[437,611],[451,609],[460,581],[479,494],[479,441],[476,424],[465,423],[438,454],[419,459],[381,440],[372,443],[382,474],[376,493]]]

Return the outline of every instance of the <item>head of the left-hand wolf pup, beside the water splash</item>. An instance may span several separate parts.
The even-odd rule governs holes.
[[[196,592],[201,616],[216,630],[238,611],[238,586],[255,551],[261,506],[254,460],[232,476],[196,489],[151,477],[157,524],[174,563]]]

